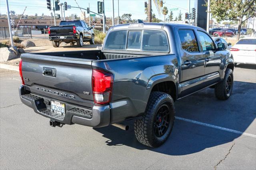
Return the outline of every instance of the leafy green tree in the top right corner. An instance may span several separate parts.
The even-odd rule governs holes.
[[[206,0],[205,3],[205,6],[207,6]],[[239,40],[242,23],[248,18],[256,16],[255,11],[255,0],[211,0],[210,11],[208,12],[215,19],[238,21],[238,35],[236,36],[236,40]]]

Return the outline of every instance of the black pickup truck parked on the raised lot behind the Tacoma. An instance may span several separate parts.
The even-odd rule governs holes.
[[[48,34],[54,47],[59,47],[61,42],[76,43],[78,47],[82,47],[83,42],[94,44],[93,28],[82,20],[61,21],[60,26],[50,26]]]

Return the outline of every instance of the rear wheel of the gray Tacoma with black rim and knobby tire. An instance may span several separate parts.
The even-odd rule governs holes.
[[[153,91],[150,94],[144,117],[134,122],[137,140],[150,147],[162,145],[172,131],[174,113],[172,97],[167,93]]]

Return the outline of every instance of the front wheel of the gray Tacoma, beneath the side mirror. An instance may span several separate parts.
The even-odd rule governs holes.
[[[215,96],[217,99],[226,100],[230,97],[233,89],[233,71],[227,68],[222,81],[215,85]]]

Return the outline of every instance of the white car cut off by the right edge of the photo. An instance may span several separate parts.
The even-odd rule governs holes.
[[[256,38],[243,38],[239,40],[230,52],[234,56],[234,62],[256,64]]]

